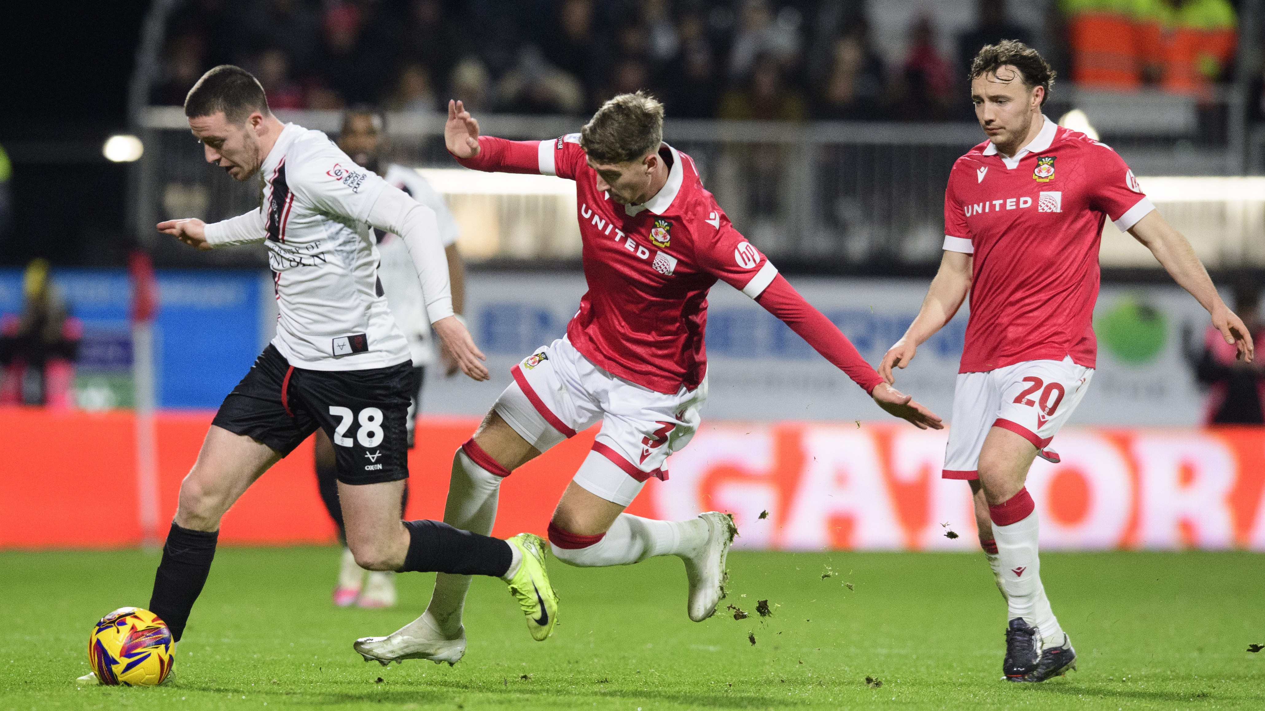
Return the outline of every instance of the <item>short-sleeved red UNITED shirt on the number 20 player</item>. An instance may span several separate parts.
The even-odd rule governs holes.
[[[984,142],[945,190],[945,249],[974,254],[958,372],[1023,361],[1094,367],[1103,220],[1126,230],[1155,207],[1109,147],[1044,119],[1013,158]]]

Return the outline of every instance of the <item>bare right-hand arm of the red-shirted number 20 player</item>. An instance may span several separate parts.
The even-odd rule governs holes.
[[[1203,268],[1203,262],[1195,256],[1187,238],[1170,225],[1159,210],[1147,213],[1146,216],[1128,228],[1128,234],[1150,249],[1151,254],[1155,254],[1164,269],[1169,272],[1169,276],[1208,310],[1208,314],[1212,315],[1212,325],[1221,331],[1226,343],[1237,347],[1238,352],[1235,357],[1251,363],[1256,356],[1252,334],[1243,325],[1243,320],[1221,300],[1217,287],[1208,276],[1208,269]]]

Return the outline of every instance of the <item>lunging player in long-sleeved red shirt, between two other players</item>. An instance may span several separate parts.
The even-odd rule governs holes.
[[[710,511],[688,521],[624,514],[650,477],[693,436],[707,397],[703,328],[717,280],[750,296],[846,372],[888,412],[918,428],[940,417],[883,382],[853,344],[746,242],[694,162],[663,143],[663,106],[624,94],[578,134],[510,142],[481,137],[449,102],[448,151],[481,171],[576,181],[588,292],[567,335],[514,367],[514,383],[458,449],[444,520],[491,531],[501,478],[589,425],[601,433],[549,522],[554,554],[581,567],[677,555],[689,579],[689,619],[716,611],[736,529]],[[460,521],[460,524],[458,524]],[[386,638],[366,638],[366,659],[455,662],[466,650],[460,611],[469,578],[440,576],[426,612]]]

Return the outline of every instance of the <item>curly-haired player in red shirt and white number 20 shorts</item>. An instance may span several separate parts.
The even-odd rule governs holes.
[[[1037,455],[1084,397],[1097,352],[1098,244],[1112,219],[1145,244],[1252,358],[1243,323],[1217,295],[1190,244],[1142,194],[1114,151],[1041,115],[1054,71],[1034,49],[984,47],[970,70],[988,140],[958,158],[945,191],[945,253],[927,297],[879,372],[910,364],[970,292],[944,477],[968,479],[980,544],[1007,601],[1013,682],[1074,668],[1077,653],[1041,586],[1037,517],[1023,487]]]

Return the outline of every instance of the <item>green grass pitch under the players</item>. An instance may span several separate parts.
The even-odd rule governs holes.
[[[395,610],[338,610],[335,549],[226,548],[167,684],[76,683],[92,622],[145,605],[157,562],[0,553],[0,708],[1265,708],[1265,653],[1246,652],[1265,643],[1265,559],[1247,553],[1046,554],[1080,669],[1009,684],[982,555],[735,553],[725,603],[751,616],[702,624],[686,616],[674,558],[550,558],[563,605],[552,639],[533,641],[505,586],[479,579],[462,663],[382,668],[352,641],[420,614],[433,576],[400,576]]]

